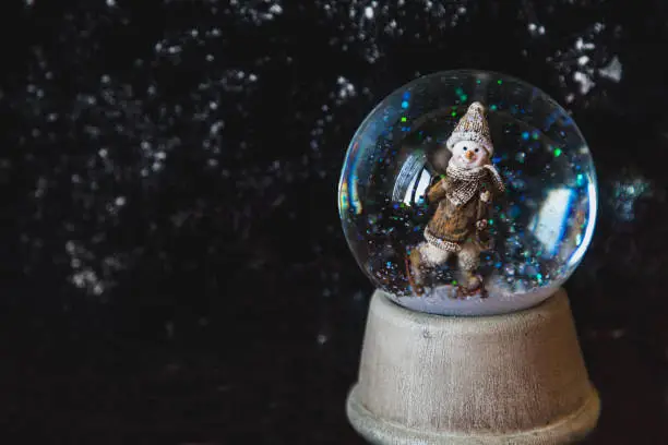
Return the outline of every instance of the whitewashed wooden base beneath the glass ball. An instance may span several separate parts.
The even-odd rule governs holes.
[[[377,290],[350,423],[378,445],[571,444],[598,421],[565,291],[528,310],[457,317]]]

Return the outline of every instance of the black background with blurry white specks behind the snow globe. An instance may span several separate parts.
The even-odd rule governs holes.
[[[2,4],[3,443],[361,444],[339,168],[386,94],[457,68],[572,110],[600,181],[566,286],[589,443],[668,443],[668,3]]]

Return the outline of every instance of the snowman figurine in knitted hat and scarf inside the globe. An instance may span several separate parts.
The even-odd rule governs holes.
[[[490,161],[494,148],[482,104],[468,107],[445,146],[452,156],[445,176],[427,191],[427,202],[436,212],[425,229],[425,241],[408,253],[408,280],[421,296],[426,273],[456,258],[455,296],[484,298],[485,285],[477,273],[480,252],[492,249],[488,218],[492,200],[505,188]]]

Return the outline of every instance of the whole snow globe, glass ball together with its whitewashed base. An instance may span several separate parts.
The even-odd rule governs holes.
[[[377,288],[347,401],[362,436],[565,444],[595,426],[561,286],[594,232],[596,175],[557,101],[492,72],[417,79],[353,136],[338,208]]]

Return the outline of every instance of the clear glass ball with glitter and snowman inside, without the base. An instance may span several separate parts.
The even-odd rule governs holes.
[[[540,89],[446,71],[396,89],[363,120],[338,185],[359,265],[396,303],[449,315],[518,311],[581,262],[597,212],[594,164]]]

